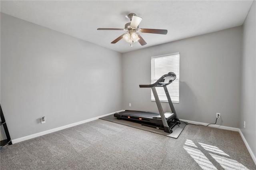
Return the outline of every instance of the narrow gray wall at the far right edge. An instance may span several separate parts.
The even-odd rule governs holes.
[[[242,109],[240,128],[256,156],[256,2],[243,25]],[[246,122],[246,128],[243,127]]]

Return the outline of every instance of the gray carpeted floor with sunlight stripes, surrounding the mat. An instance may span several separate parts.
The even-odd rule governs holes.
[[[98,119],[0,150],[1,170],[251,169],[238,132],[187,125],[175,138]]]

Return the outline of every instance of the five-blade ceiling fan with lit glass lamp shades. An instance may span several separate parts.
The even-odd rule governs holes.
[[[136,14],[131,13],[127,18],[130,19],[131,22],[128,22],[125,24],[124,29],[122,28],[98,28],[97,30],[121,30],[126,31],[127,33],[122,34],[118,38],[116,38],[111,43],[117,43],[119,40],[124,38],[124,40],[128,43],[130,43],[132,47],[132,43],[139,42],[140,45],[146,45],[147,43],[145,40],[138,34],[138,32],[142,33],[152,33],[152,34],[167,34],[167,30],[159,30],[159,29],[147,29],[147,28],[139,28],[139,24],[142,21],[142,18],[139,16],[136,16]]]

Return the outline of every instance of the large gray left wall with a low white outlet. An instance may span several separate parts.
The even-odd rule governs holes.
[[[121,65],[121,53],[1,14],[1,105],[11,138],[121,110]]]

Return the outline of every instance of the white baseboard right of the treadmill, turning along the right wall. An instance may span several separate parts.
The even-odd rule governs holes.
[[[187,121],[187,120],[183,120],[183,119],[180,119],[180,121],[187,122],[187,123],[191,123],[191,124],[195,124],[195,125],[204,125],[204,126],[208,125],[208,123]],[[241,137],[242,137],[242,139],[243,139],[243,141],[244,141],[244,144],[245,144],[246,148],[248,149],[250,155],[252,156],[252,160],[253,160],[254,163],[256,164],[256,156],[255,156],[254,153],[252,152],[252,149],[250,148],[248,142],[247,142],[246,139],[244,138],[244,135],[243,135],[242,131],[240,130],[240,128],[225,127],[225,126],[220,126],[220,125],[209,125],[208,127],[220,128],[220,129],[232,130],[232,131],[239,132],[239,134],[241,135]]]

